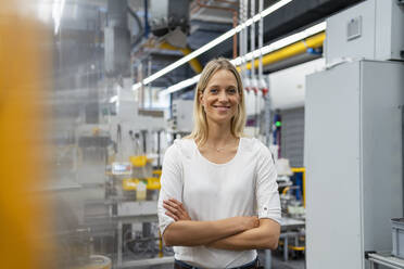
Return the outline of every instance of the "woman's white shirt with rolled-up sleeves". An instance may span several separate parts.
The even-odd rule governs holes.
[[[192,220],[258,216],[280,222],[280,203],[272,154],[261,141],[241,138],[235,157],[225,164],[206,159],[191,139],[175,140],[165,155],[159,196],[162,234],[174,222],[163,200],[182,202]],[[256,251],[175,246],[175,258],[202,268],[231,268],[255,259]]]

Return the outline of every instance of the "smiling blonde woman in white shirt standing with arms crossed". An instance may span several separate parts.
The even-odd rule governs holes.
[[[194,98],[192,133],[165,153],[160,229],[174,268],[258,268],[275,249],[280,203],[269,150],[243,137],[242,81],[226,59],[211,61]]]

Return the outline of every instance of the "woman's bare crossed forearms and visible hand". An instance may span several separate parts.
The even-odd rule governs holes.
[[[169,198],[163,202],[166,215],[175,222],[163,233],[168,246],[198,246],[243,251],[275,249],[278,246],[280,226],[272,219],[257,217],[232,217],[215,221],[191,220],[184,205]]]

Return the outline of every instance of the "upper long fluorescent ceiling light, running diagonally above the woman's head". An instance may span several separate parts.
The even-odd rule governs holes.
[[[210,49],[212,49],[213,47],[217,46],[218,43],[222,43],[223,41],[225,41],[226,39],[232,37],[233,35],[236,35],[237,33],[241,31],[243,28],[250,26],[253,24],[253,22],[257,22],[262,18],[264,18],[265,16],[269,15],[270,13],[275,12],[276,10],[282,8],[283,5],[288,4],[289,2],[291,2],[292,0],[280,0],[279,2],[270,5],[269,8],[267,8],[266,10],[264,10],[262,13],[258,13],[256,15],[254,15],[253,17],[247,20],[243,24],[241,25],[238,25],[237,27],[230,29],[229,31],[226,31],[225,34],[223,34],[222,36],[217,37],[216,39],[212,40],[211,42],[202,46],[201,48],[199,48],[198,50],[189,53],[188,55],[181,57],[180,60],[178,60],[177,62],[174,62],[172,63],[171,65],[168,65],[167,67],[154,73],[153,75],[151,75],[150,77],[147,77],[143,79],[142,82],[138,82],[138,84],[135,84],[132,86],[132,90],[137,90],[141,87],[141,85],[148,85],[150,84],[151,81],[160,78],[161,76],[164,76],[165,74],[167,74],[168,72],[181,66],[182,64],[189,62],[190,60],[199,56],[200,54],[209,51]]]

